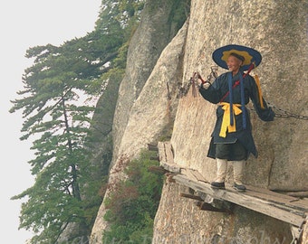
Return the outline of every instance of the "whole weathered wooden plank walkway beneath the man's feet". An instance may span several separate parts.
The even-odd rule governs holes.
[[[302,227],[308,214],[308,200],[272,192],[267,189],[247,185],[245,192],[236,192],[226,185],[226,190],[213,189],[196,170],[181,168],[173,161],[169,142],[159,142],[160,166],[172,173],[176,183],[188,186],[198,194],[218,201],[232,202],[236,205],[271,216],[277,220]],[[193,198],[193,196],[192,196]],[[206,202],[206,200],[205,200]]]

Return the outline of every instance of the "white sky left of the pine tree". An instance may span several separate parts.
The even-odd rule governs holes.
[[[10,100],[23,89],[24,58],[29,47],[62,44],[90,33],[95,26],[101,0],[1,0],[0,3],[0,233],[1,243],[23,244],[33,236],[18,230],[21,201],[15,194],[33,184],[30,165],[31,142],[22,142],[21,113],[10,114]]]

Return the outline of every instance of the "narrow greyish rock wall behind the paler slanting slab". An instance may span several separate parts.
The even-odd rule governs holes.
[[[148,0],[142,11],[140,25],[130,41],[125,76],[120,83],[119,99],[113,121],[113,164],[130,119],[130,111],[149,78],[160,53],[177,33],[171,13],[181,1]]]

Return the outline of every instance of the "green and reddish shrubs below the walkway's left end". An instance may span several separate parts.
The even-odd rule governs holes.
[[[113,186],[105,201],[108,211],[104,218],[111,223],[111,230],[103,235],[106,243],[151,243],[163,185],[163,175],[148,170],[159,164],[150,159],[154,154],[142,151],[124,170],[127,178]]]

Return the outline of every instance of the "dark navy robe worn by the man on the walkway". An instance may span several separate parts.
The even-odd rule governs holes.
[[[241,71],[240,71],[241,72]],[[242,72],[242,74],[244,74]],[[239,80],[239,73],[237,73],[232,78],[232,84]],[[268,108],[263,99],[264,108],[261,108],[260,99],[259,99],[259,91],[255,84],[255,79],[247,75],[243,80],[244,84],[244,93],[245,93],[245,105],[249,102],[249,99],[252,100],[254,104],[254,108],[258,117],[260,117],[263,121],[272,121],[274,120],[274,111],[272,108]],[[226,99],[222,100],[229,90],[228,88],[228,72],[220,75],[217,79],[213,82],[212,85],[209,86],[208,89],[204,89],[202,86],[199,89],[200,94],[204,99],[207,101],[217,104],[219,102],[227,102],[229,103],[229,95]],[[233,103],[234,104],[241,104],[241,91],[240,85],[236,86],[232,90],[233,92]],[[240,107],[243,111],[243,108]],[[243,112],[239,115],[235,116],[236,119],[236,132],[226,132],[226,137],[219,136],[220,128],[222,125],[223,115],[225,110],[222,109],[221,106],[217,108],[217,122],[214,127],[214,131],[212,133],[212,140],[208,149],[207,156],[211,158],[216,158],[216,145],[217,144],[232,144],[235,143],[237,140],[245,146],[247,150],[247,156],[251,153],[257,157],[257,150],[255,148],[255,141],[252,136],[252,126],[250,122],[250,115],[249,110],[245,109],[245,128],[243,127]],[[228,160],[232,160],[229,158]]]

